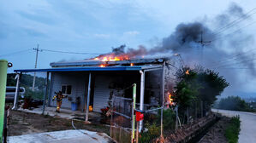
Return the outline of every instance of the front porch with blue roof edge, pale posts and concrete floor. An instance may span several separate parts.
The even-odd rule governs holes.
[[[145,106],[145,94],[146,94],[146,101],[150,102],[152,99],[150,99],[150,94],[152,94],[151,92],[146,92],[149,89],[152,89],[152,87],[148,87],[146,88],[147,84],[146,83],[157,83],[158,85],[155,85],[156,87],[158,87],[158,97],[159,99],[159,103],[161,104],[161,100],[163,100],[162,94],[164,95],[164,86],[162,85],[162,83],[164,83],[164,66],[107,66],[107,67],[98,67],[98,66],[93,66],[93,67],[65,67],[65,68],[50,68],[50,69],[27,69],[27,70],[15,70],[15,72],[17,72],[17,74],[19,75],[19,77],[17,78],[17,89],[19,89],[20,87],[20,78],[22,73],[24,72],[46,72],[47,73],[47,77],[46,77],[46,82],[45,82],[45,97],[44,97],[44,106],[41,106],[38,109],[34,109],[34,111],[25,111],[25,112],[35,112],[35,113],[40,113],[40,114],[48,114],[50,116],[62,116],[62,117],[68,117],[68,118],[72,118],[72,117],[86,117],[85,120],[86,122],[90,120],[93,120],[93,118],[97,118],[97,116],[95,116],[95,113],[89,112],[89,106],[91,103],[93,104],[93,108],[96,105],[100,105],[101,103],[103,103],[104,101],[104,106],[107,105],[108,103],[108,99],[110,96],[110,82],[105,82],[102,81],[100,78],[100,75],[104,74],[104,77],[108,77],[108,78],[112,78],[112,77],[116,77],[117,75],[122,75],[122,73],[126,73],[127,75],[129,75],[129,77],[133,77],[132,75],[136,74],[135,76],[135,83],[137,83],[137,85],[139,85],[138,88],[138,101],[140,103],[140,110],[143,111],[144,110],[144,106]],[[161,73],[161,71],[163,71],[163,74]],[[59,74],[59,73],[71,73],[71,72],[80,72],[81,74],[83,74],[86,78],[85,80],[82,80],[85,82],[85,84],[82,86],[83,88],[86,87],[84,94],[82,94],[82,101],[81,101],[81,112],[80,111],[75,111],[75,112],[71,112],[71,110],[67,110],[64,108],[61,108],[61,113],[56,113],[55,112],[55,107],[51,107],[50,103],[51,103],[51,95],[54,92],[52,90],[52,83],[50,84],[50,79],[51,82],[53,82],[54,80],[52,80],[52,78],[49,79],[50,75],[52,77],[52,75],[54,74]],[[110,77],[108,75],[108,73],[112,74],[112,76]],[[154,82],[154,81],[147,81],[147,80],[152,80],[152,78],[146,78],[146,73],[151,73],[151,72],[158,72],[158,75],[160,77],[157,77],[158,82]],[[159,73],[160,72],[160,73]],[[85,74],[86,73],[86,74]],[[114,73],[114,74],[113,74]],[[116,74],[116,75],[115,75]],[[100,86],[95,86],[95,84],[93,85],[93,77],[98,77],[100,80],[95,80],[96,83],[100,83],[98,85]],[[121,77],[127,77],[127,76],[121,76]],[[127,78],[129,78],[127,77]],[[67,76],[67,79],[68,76]],[[94,82],[95,82],[94,81]],[[128,81],[122,81],[122,78],[117,80],[119,83],[128,83]],[[117,84],[119,84],[118,82],[116,82]],[[133,83],[134,83],[133,82]],[[80,82],[76,82],[76,84],[80,84]],[[132,84],[132,83],[131,83]],[[104,86],[104,87],[103,87]],[[149,85],[151,86],[151,85]],[[100,88],[98,88],[100,87]],[[125,86],[124,86],[125,87]],[[97,88],[98,88],[98,92],[97,92]],[[101,89],[106,89],[101,90]],[[77,90],[77,89],[76,89]],[[93,91],[94,90],[94,91]],[[93,94],[94,93],[94,94]],[[17,109],[17,95],[19,94],[19,91],[16,91],[16,95],[15,95],[15,106],[14,109]],[[97,94],[101,94],[101,96],[97,96]],[[131,94],[129,94],[131,95]],[[104,98],[103,98],[104,96]],[[97,99],[97,100],[96,100]],[[93,101],[93,102],[92,102]],[[102,104],[101,104],[102,106]],[[98,108],[99,109],[99,108]],[[99,110],[100,111],[100,110]],[[77,116],[78,115],[78,116]]]

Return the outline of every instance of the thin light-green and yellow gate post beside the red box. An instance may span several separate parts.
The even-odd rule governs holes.
[[[136,83],[134,83],[133,88],[133,111],[132,111],[132,140],[131,142],[134,143],[135,139],[135,115],[134,115],[134,109],[136,107]]]

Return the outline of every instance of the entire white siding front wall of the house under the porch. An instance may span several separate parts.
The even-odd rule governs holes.
[[[110,97],[110,83],[122,83],[126,80],[137,81],[138,89],[140,89],[140,77],[134,77],[135,73],[128,74],[108,74],[108,73],[92,73],[94,79],[92,80],[93,91],[93,112],[101,112],[100,109],[108,106],[108,101]],[[138,72],[139,74],[139,72]],[[146,90],[151,90],[155,97],[161,96],[160,72],[147,72],[149,74],[146,79]],[[160,75],[159,75],[160,74]],[[124,78],[126,78],[124,80]],[[128,78],[128,79],[127,79]],[[63,84],[72,86],[72,96],[80,97],[79,110],[82,109],[82,105],[85,105],[86,95],[87,95],[87,83],[88,83],[88,73],[86,72],[52,72],[51,77],[51,97],[50,106],[56,106],[56,101],[51,101],[52,97],[55,95],[54,92],[61,90]],[[138,90],[140,91],[140,90]],[[140,96],[140,92],[137,93]],[[145,98],[148,98],[149,94],[145,94]],[[91,99],[92,100],[92,99]],[[85,101],[85,102],[84,102]],[[63,99],[64,108],[71,108],[71,102],[67,98]]]

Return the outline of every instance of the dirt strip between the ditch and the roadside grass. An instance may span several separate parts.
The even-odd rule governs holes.
[[[224,136],[224,133],[229,125],[229,121],[229,117],[222,117],[213,127],[211,127],[211,129],[209,129],[208,133],[199,140],[199,143],[227,143],[228,140]]]

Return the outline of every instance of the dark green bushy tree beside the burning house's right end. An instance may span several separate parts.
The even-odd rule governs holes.
[[[209,110],[210,108],[207,106],[213,104],[217,100],[217,95],[220,95],[223,89],[229,86],[226,79],[219,76],[218,72],[204,70],[203,67],[196,69],[182,67],[176,72],[176,78],[178,82],[174,92],[175,102],[179,106],[180,112],[185,112],[189,106],[199,105],[199,102],[202,103],[202,107],[205,103],[200,111],[204,111],[204,108],[205,111]],[[195,107],[194,110],[198,109]]]

